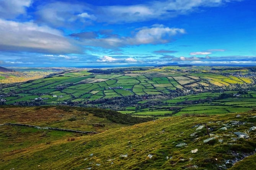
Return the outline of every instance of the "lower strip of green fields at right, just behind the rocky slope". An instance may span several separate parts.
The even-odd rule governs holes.
[[[222,93],[206,92],[187,95],[173,99],[145,100],[138,102],[136,107],[126,107],[129,112],[122,112],[133,116],[147,115],[148,117],[166,117],[183,114],[223,114],[240,113],[256,109],[256,92],[248,92],[238,97],[237,91],[228,91],[232,97],[216,99]],[[215,99],[214,99],[215,98]],[[208,99],[204,101],[204,99]]]

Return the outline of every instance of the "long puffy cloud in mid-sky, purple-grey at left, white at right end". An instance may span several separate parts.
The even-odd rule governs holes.
[[[164,25],[153,25],[151,27],[136,29],[134,34],[130,37],[122,37],[109,33],[104,35],[100,32],[81,32],[71,34],[70,36],[80,39],[83,45],[113,48],[129,45],[165,44],[171,42],[173,36],[185,33],[186,31],[182,28],[169,28]],[[97,37],[95,37],[96,34]]]

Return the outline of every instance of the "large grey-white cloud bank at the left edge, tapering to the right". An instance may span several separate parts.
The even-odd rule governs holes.
[[[0,50],[48,53],[78,52],[62,33],[47,26],[0,19]]]

